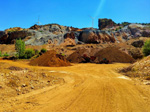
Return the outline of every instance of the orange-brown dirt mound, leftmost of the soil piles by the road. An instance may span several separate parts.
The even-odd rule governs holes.
[[[40,57],[33,59],[29,63],[33,66],[48,66],[48,67],[61,67],[61,66],[71,66],[71,64],[56,51],[47,51]]]

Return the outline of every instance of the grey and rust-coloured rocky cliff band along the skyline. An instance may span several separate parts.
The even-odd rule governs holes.
[[[100,29],[78,29],[58,24],[34,25],[29,29],[0,32],[0,44],[13,44],[16,39],[23,39],[26,45],[76,45],[81,43],[115,43],[131,38],[150,37],[150,26],[129,24],[118,26],[112,20],[100,19]],[[118,27],[120,27],[118,29]],[[113,28],[117,28],[113,30]],[[20,29],[20,28],[19,28]]]

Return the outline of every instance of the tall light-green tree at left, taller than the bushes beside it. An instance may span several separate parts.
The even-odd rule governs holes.
[[[19,58],[23,58],[23,56],[25,54],[25,43],[24,43],[24,41],[22,41],[21,39],[16,40],[15,49],[17,51],[17,55],[19,56]]]

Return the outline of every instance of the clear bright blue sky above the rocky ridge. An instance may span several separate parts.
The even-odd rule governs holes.
[[[150,0],[0,0],[0,30],[42,24],[98,27],[98,18],[150,23]]]

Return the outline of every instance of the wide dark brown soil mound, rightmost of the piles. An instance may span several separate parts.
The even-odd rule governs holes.
[[[116,47],[107,47],[95,54],[97,59],[95,60],[96,63],[102,61],[104,58],[109,60],[110,62],[117,62],[117,63],[133,63],[135,60],[128,54],[120,51]]]

